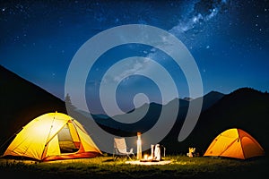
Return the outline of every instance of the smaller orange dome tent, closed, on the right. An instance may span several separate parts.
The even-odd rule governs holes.
[[[261,145],[250,134],[237,128],[221,132],[204,153],[204,156],[240,159],[264,155]]]

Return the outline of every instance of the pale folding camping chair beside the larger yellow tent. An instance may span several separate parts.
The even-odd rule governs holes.
[[[129,151],[127,151],[129,149]],[[127,157],[132,159],[134,157],[133,148],[127,148],[125,138],[114,138],[114,152],[113,159],[116,160],[119,157]]]

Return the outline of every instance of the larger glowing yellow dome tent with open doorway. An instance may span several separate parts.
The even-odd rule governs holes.
[[[22,128],[4,156],[34,158],[40,161],[93,158],[101,154],[90,135],[71,116],[48,113]]]

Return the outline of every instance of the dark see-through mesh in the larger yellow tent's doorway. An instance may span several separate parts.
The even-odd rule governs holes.
[[[72,138],[69,125],[65,124],[65,127],[57,134],[61,153],[74,153],[79,150],[78,145]],[[75,132],[74,134],[77,137],[77,133]]]

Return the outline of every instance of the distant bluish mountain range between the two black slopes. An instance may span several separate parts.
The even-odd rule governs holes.
[[[216,103],[220,98],[222,98],[224,94],[216,91],[212,91],[204,96],[204,102],[203,102],[203,108],[202,110],[207,109],[208,107],[213,106],[214,103]],[[120,129],[126,132],[132,132],[135,133],[137,131],[139,132],[146,132],[149,129],[152,128],[152,126],[157,122],[159,115],[161,114],[161,108],[162,107],[168,107],[171,108],[173,106],[173,101],[178,100],[179,102],[179,110],[178,110],[178,121],[182,122],[187,114],[187,109],[189,105],[189,100],[181,99],[181,98],[175,98],[174,100],[170,101],[168,104],[162,106],[158,103],[151,103],[151,104],[144,104],[142,107],[138,107],[137,109],[133,109],[129,111],[127,114],[124,115],[115,115],[112,118],[107,115],[91,115],[95,121],[103,126],[107,126],[109,128],[115,128]],[[192,99],[192,102],[195,102],[197,99]],[[146,109],[149,109],[147,114],[143,116],[141,120],[134,124],[123,124],[119,123],[113,118],[121,118],[126,120],[126,122],[129,120],[129,114],[136,112],[140,114],[140,111],[145,111]],[[89,116],[87,112],[80,111],[82,115]],[[170,117],[167,116],[167,120],[169,120]]]

